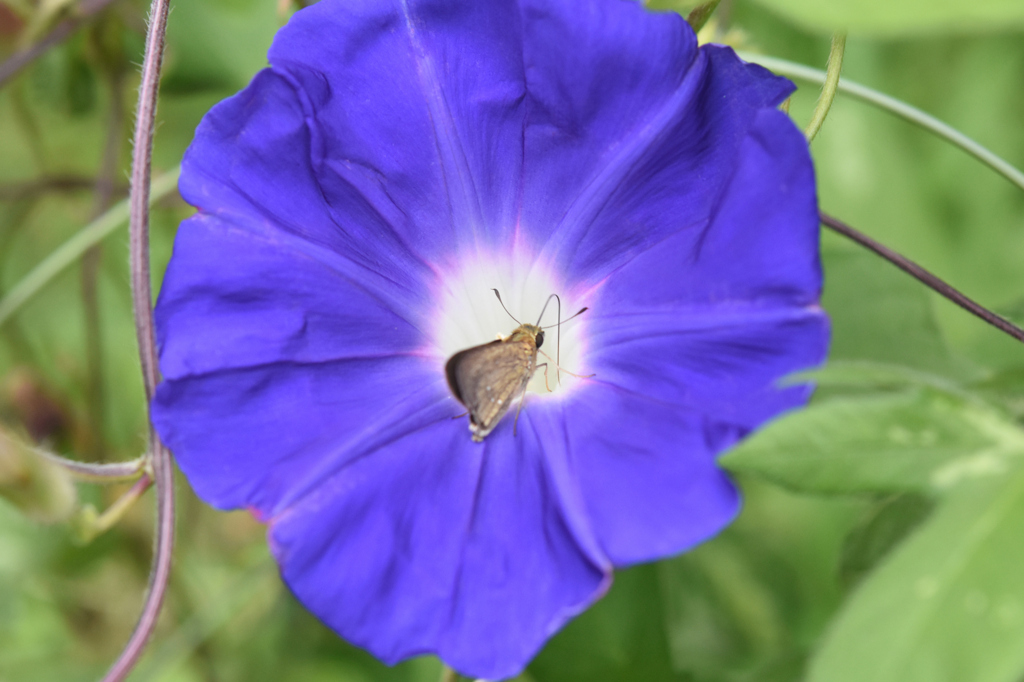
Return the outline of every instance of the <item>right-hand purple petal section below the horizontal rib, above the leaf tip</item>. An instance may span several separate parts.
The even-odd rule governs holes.
[[[776,384],[821,364],[828,342],[816,308],[678,308],[591,322],[588,372],[599,384],[731,425],[737,436],[807,400],[806,386]]]

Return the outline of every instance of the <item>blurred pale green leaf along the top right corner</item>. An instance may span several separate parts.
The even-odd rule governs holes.
[[[1005,32],[1024,27],[1020,0],[758,0],[815,31],[847,29],[898,36],[922,33]]]

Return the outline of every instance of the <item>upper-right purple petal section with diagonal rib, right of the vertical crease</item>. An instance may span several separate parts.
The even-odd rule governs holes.
[[[524,17],[521,224],[584,282],[707,224],[752,121],[793,90],[637,3],[538,0]]]

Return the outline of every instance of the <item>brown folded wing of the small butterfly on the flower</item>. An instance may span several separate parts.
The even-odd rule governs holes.
[[[529,381],[536,363],[531,339],[492,341],[449,359],[444,366],[449,387],[469,411],[474,440],[498,425]]]

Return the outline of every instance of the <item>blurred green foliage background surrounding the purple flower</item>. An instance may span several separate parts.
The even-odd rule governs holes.
[[[76,4],[0,2],[0,61]],[[155,175],[294,9],[173,3]],[[145,12],[113,2],[0,89],[0,296],[127,195]],[[820,69],[849,26],[845,76],[1024,167],[1024,3],[735,0],[713,20],[718,40]],[[803,126],[817,88],[798,85]],[[824,210],[1024,322],[1024,193],[842,95],[812,151]],[[190,211],[174,195],[153,212],[156,285]],[[1024,348],[841,238],[822,248],[829,368],[810,410],[727,458],[740,519],[618,573],[524,680],[1024,678]],[[0,328],[0,429],[119,461],[142,452],[144,419],[122,228]],[[79,503],[124,489],[80,484]],[[340,641],[283,588],[259,524],[177,491],[170,593],[131,680],[437,679],[436,659],[387,668]],[[0,682],[97,679],[141,605],[151,497],[89,543],[25,511],[0,499]]]

